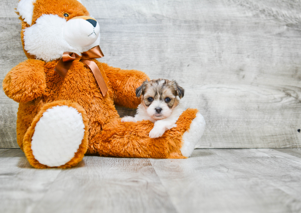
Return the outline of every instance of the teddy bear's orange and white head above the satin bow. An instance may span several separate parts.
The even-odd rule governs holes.
[[[66,51],[80,55],[99,45],[100,26],[76,0],[20,0],[22,45],[28,58],[46,62]]]

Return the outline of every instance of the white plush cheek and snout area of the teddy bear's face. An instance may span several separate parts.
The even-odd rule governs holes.
[[[65,18],[58,15],[43,14],[34,25],[24,29],[24,49],[29,54],[35,55],[37,59],[49,62],[61,58],[66,51],[81,55],[82,52],[99,45],[100,27],[98,23],[94,28],[90,22],[84,19],[72,20],[82,21],[73,25],[72,22],[69,23],[71,20],[67,22]],[[80,27],[79,23],[83,23],[84,27]],[[65,29],[71,29],[68,31],[68,42],[63,36]],[[89,32],[87,30],[84,32],[84,29]],[[91,36],[88,36],[89,34]]]

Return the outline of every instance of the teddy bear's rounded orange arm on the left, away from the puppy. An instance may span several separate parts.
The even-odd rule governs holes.
[[[16,102],[28,102],[44,93],[46,88],[44,62],[28,59],[11,69],[3,83],[5,94]]]

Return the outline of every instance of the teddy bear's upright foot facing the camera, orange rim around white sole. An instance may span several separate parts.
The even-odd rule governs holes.
[[[23,147],[35,168],[77,165],[88,148],[88,120],[77,103],[45,104],[25,133]]]

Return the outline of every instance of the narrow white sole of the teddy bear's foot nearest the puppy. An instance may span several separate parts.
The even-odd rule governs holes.
[[[182,140],[183,146],[181,148],[181,153],[185,157],[190,157],[195,145],[201,139],[205,130],[205,119],[203,115],[197,113],[195,119],[192,120],[190,124],[189,131],[184,132]]]

